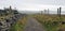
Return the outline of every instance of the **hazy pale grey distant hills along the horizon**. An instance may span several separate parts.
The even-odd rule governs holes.
[[[22,14],[37,14],[37,13],[41,13],[41,11],[18,11]],[[42,11],[42,14],[44,14],[44,12]],[[57,11],[49,11],[49,14],[57,14]],[[65,12],[62,11],[61,13],[62,15],[65,15]]]

